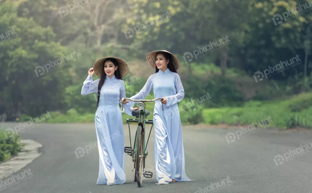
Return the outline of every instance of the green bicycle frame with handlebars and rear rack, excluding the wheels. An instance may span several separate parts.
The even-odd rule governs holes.
[[[153,99],[153,100],[132,100],[132,99],[130,99],[130,98],[125,98],[124,99],[124,101],[134,101],[134,102],[152,102],[152,101],[162,101],[163,100],[163,98],[155,98],[155,99]],[[146,158],[146,156],[148,155],[148,152],[146,152],[145,153],[145,151],[146,151],[146,147],[147,147],[147,144],[148,144],[148,142],[149,142],[149,137],[148,137],[148,139],[147,139],[147,142],[146,142],[146,145],[145,145],[145,125],[146,124],[151,124],[152,126],[151,126],[151,129],[150,129],[150,131],[149,131],[149,136],[150,136],[150,134],[151,134],[151,131],[152,131],[152,128],[153,128],[153,126],[154,126],[154,122],[153,122],[153,120],[149,120],[149,119],[146,119],[146,116],[145,116],[145,114],[146,114],[146,112],[145,112],[145,103],[144,103],[144,108],[143,109],[141,109],[141,110],[139,110],[139,117],[138,118],[136,118],[136,119],[129,119],[129,118],[127,118],[127,124],[128,124],[128,127],[129,127],[129,138],[130,138],[130,147],[132,148],[132,145],[131,145],[131,133],[130,133],[130,125],[129,125],[129,123],[130,122],[133,122],[133,123],[142,123],[142,125],[143,125],[143,156],[144,156],[144,163],[143,163],[143,168],[145,168],[145,158]],[[122,109],[121,110],[123,110],[123,108],[124,108],[124,104],[122,105]],[[137,133],[137,132],[136,132]],[[136,139],[136,134],[135,133],[135,137],[134,137],[134,139]],[[136,144],[135,144],[135,140],[134,140],[134,145],[133,145],[133,148],[132,148],[132,150],[134,150],[135,149],[135,146],[136,146]],[[134,162],[134,156],[135,156],[135,151],[132,151],[132,153],[127,153],[128,155],[130,155],[131,157],[132,157],[132,161]]]

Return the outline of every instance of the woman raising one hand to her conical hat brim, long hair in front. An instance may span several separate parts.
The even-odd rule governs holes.
[[[97,92],[95,131],[99,148],[99,176],[96,184],[123,184],[124,173],[124,130],[119,103],[125,97],[122,77],[128,72],[128,65],[117,57],[104,57],[90,68],[89,76],[83,82],[81,95]],[[93,81],[96,74],[100,79]],[[119,102],[120,101],[120,102]],[[132,116],[129,104],[125,112]]]

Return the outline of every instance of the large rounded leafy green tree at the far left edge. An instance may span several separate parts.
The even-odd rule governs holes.
[[[0,28],[10,37],[0,43],[0,101],[8,116],[21,112],[33,116],[61,109],[63,82],[70,82],[66,67],[57,73],[44,72],[43,76],[38,76],[36,67],[66,55],[68,50],[51,41],[55,34],[50,27],[41,27],[32,18],[18,17],[20,3],[1,3]]]

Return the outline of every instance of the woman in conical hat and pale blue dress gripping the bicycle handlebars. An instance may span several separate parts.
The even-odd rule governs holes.
[[[179,59],[172,53],[161,50],[150,52],[146,56],[149,65],[156,69],[142,90],[130,97],[143,100],[151,89],[154,98],[163,98],[162,104],[155,101],[153,122],[155,131],[154,158],[156,165],[156,184],[168,184],[175,181],[192,181],[185,173],[182,126],[178,102],[184,97],[184,89],[178,75]],[[124,98],[122,99],[122,103]],[[136,102],[125,101],[133,106]]]

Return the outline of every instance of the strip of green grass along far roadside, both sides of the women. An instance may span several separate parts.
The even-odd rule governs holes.
[[[204,109],[198,105],[195,110],[184,109],[179,102],[181,122],[183,124],[218,124],[246,125],[270,119],[270,126],[289,129],[294,127],[312,127],[312,92],[303,93],[283,101],[249,101],[243,107],[223,107]],[[154,103],[146,103],[146,109],[151,112],[147,117],[153,119]],[[136,105],[134,105],[136,106]],[[75,109],[65,114],[58,111],[50,112],[52,116],[48,123],[86,123],[94,122],[95,113],[79,114]],[[127,118],[134,118],[126,113],[122,114],[123,123]]]

